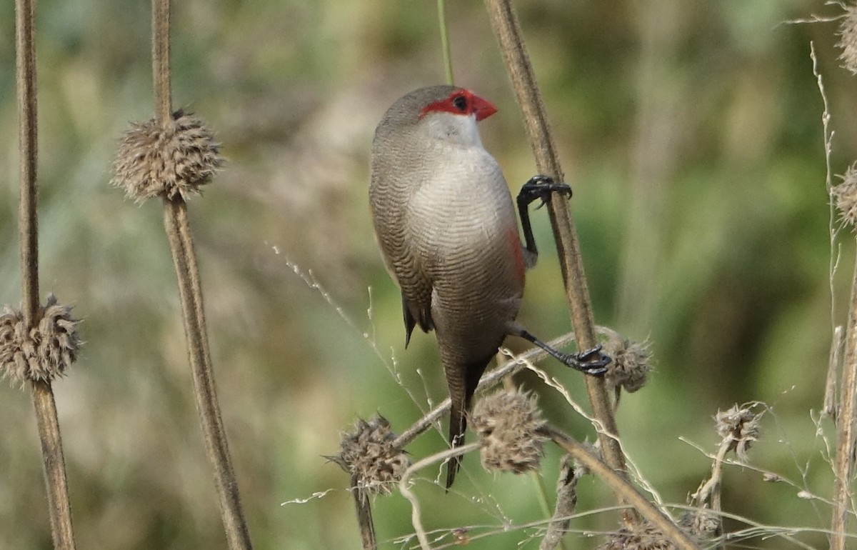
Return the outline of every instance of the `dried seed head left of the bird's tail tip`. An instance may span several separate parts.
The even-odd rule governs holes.
[[[396,434],[381,415],[369,422],[358,420],[354,431],[343,433],[339,454],[327,457],[351,474],[358,488],[367,493],[390,494],[411,466],[405,451],[393,447]]]

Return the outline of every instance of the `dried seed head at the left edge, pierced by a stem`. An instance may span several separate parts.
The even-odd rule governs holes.
[[[24,326],[21,311],[3,308],[0,315],[0,371],[3,377],[20,381],[50,381],[63,374],[77,358],[81,338],[71,308],[48,296],[42,318],[33,329]]]

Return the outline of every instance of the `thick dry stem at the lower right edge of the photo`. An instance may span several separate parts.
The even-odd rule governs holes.
[[[842,397],[839,400],[838,437],[836,438],[836,482],[833,496],[831,550],[845,550],[848,515],[851,513],[851,473],[854,462],[854,413],[857,391],[857,263],[851,284],[848,329],[845,332],[845,358],[842,362]]]

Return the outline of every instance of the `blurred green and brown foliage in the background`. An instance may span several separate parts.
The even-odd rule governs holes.
[[[0,5],[0,301],[17,303],[11,4]],[[785,21],[836,6],[518,4],[575,190],[596,321],[650,339],[656,357],[649,385],[622,398],[626,451],[663,499],[684,503],[710,460],[680,438],[714,451],[716,411],[764,400],[770,414],[752,463],[829,497],[824,445],[834,431],[821,422],[823,439],[811,411],[822,402],[832,326],[845,319],[854,251],[848,230],[830,244],[810,41],[830,99],[836,173],[857,156],[857,86],[838,67],[835,23]],[[482,136],[517,188],[534,167],[482,4],[447,10],[457,82],[500,106]],[[205,119],[228,158],[190,212],[251,533],[260,548],[357,548],[348,477],[321,456],[337,451],[357,416],[381,412],[400,431],[446,396],[434,338],[415,335],[403,350],[398,290],[375,249],[366,198],[381,113],[443,80],[434,3],[191,0],[176,3],[172,24],[174,104]],[[160,207],[135,206],[108,185],[118,136],[151,116],[147,3],[43,0],[37,26],[42,293],[75,305],[87,341],[55,385],[79,547],[224,547]],[[569,321],[546,215],[536,214],[536,233],[544,252],[522,317],[553,338]],[[831,250],[842,254],[832,282]],[[393,355],[414,398],[385,367]],[[543,367],[585,403],[579,374]],[[555,392],[521,380],[542,395],[551,421],[592,437]],[[51,547],[27,392],[0,388],[0,417],[0,548]],[[409,451],[424,457],[443,445],[432,432]],[[558,460],[549,450],[548,489]],[[527,476],[488,475],[474,456],[459,479],[448,495],[418,483],[427,529],[502,531],[543,518]],[[764,484],[752,469],[728,468],[723,495],[727,511],[759,523],[825,529],[830,521],[827,505]],[[578,511],[610,504],[598,481],[584,479]],[[411,547],[393,542],[412,531],[410,513],[399,495],[375,500],[383,547]],[[615,529],[615,516],[572,527]],[[470,547],[530,536],[522,547],[537,547],[533,529]],[[575,547],[595,546],[568,536]],[[800,538],[825,545],[823,535]]]

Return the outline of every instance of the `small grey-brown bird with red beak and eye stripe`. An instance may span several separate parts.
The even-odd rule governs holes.
[[[482,146],[476,123],[497,108],[451,85],[407,93],[381,117],[372,140],[369,206],[387,272],[399,285],[405,348],[416,326],[434,331],[451,400],[449,442],[464,445],[466,415],[488,362],[506,336],[524,338],[560,362],[601,375],[600,346],[554,350],[516,321],[524,272],[538,250],[528,206],[565,183],[534,176],[515,205],[500,165]],[[446,490],[461,457],[446,465]]]

